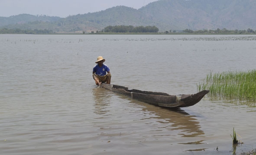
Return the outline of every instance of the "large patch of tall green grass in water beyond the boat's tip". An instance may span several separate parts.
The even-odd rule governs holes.
[[[210,90],[208,95],[212,97],[256,101],[256,70],[210,73],[197,87],[198,91]]]

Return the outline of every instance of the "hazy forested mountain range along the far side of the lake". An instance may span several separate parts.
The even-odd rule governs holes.
[[[66,18],[21,14],[0,17],[0,28],[47,29],[53,32],[101,31],[109,25],[184,29],[256,29],[256,0],[159,0],[140,8],[115,6]]]

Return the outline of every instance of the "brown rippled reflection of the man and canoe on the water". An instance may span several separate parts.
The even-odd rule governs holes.
[[[141,110],[139,113],[143,111],[147,115],[146,118],[144,116],[138,120],[157,119],[156,122],[161,123],[159,130],[163,128],[170,131],[178,130],[178,135],[181,135],[181,137],[202,137],[204,135],[204,131],[201,130],[199,121],[197,121],[195,116],[189,115],[181,108],[157,107],[102,88],[94,89],[95,108],[97,108],[95,113],[97,114],[106,113],[106,110],[104,110],[108,106],[106,93],[112,93],[112,95],[117,95],[119,98],[127,101],[130,100],[130,104],[143,105],[140,106]],[[152,117],[152,115],[154,116]]]

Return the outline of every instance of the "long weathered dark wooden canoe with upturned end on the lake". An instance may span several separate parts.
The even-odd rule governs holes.
[[[100,86],[113,92],[130,96],[132,99],[137,99],[139,101],[144,101],[149,104],[170,108],[189,107],[197,104],[204,97],[204,95],[209,92],[209,90],[203,90],[196,94],[190,95],[169,95],[163,92],[149,92],[137,89],[130,90],[124,86],[109,85],[106,83],[102,83]]]

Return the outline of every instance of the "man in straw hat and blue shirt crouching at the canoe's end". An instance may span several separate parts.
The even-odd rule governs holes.
[[[110,70],[108,66],[104,64],[104,62],[105,62],[105,59],[99,56],[97,57],[97,61],[95,62],[97,64],[93,67],[92,77],[95,80],[96,85],[100,85],[101,82],[103,83],[107,82],[107,84],[110,84],[110,80],[111,80]]]

